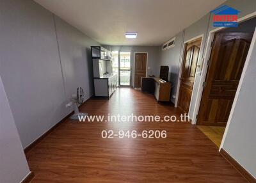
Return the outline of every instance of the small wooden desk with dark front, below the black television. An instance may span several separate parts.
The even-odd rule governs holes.
[[[157,102],[169,102],[171,83],[158,77],[141,77],[141,91],[154,94]]]

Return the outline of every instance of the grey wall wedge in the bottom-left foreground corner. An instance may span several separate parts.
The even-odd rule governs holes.
[[[0,182],[17,183],[29,173],[12,111],[0,77]]]

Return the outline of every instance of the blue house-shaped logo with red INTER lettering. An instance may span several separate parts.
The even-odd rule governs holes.
[[[216,8],[211,11],[213,15],[213,26],[214,27],[231,27],[236,28],[237,24],[237,15],[240,13],[238,10],[231,8],[229,6],[223,5],[220,8]]]

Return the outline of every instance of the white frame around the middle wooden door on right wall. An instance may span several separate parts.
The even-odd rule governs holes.
[[[193,37],[193,38],[183,42],[183,45],[182,45],[182,56],[180,58],[180,64],[179,64],[180,70],[179,70],[179,80],[178,80],[178,84],[177,84],[176,97],[175,97],[176,98],[176,100],[175,100],[175,107],[178,106],[178,101],[179,101],[180,77],[181,77],[181,74],[182,74],[182,65],[183,65],[184,56],[185,56],[185,49],[186,49],[185,44],[187,44],[189,42],[193,42],[193,41],[198,40],[200,38],[201,38],[200,51],[199,51],[199,54],[198,54],[198,61],[197,61],[197,64],[196,64],[196,70],[197,70],[198,63],[202,63],[202,61],[200,61],[200,59],[202,59],[202,51],[203,51],[202,50],[202,45],[203,45],[203,41],[204,41],[204,34],[199,35],[199,36],[195,36],[195,37]],[[194,90],[194,87],[193,87],[191,96],[193,96],[194,92],[195,92],[195,90]],[[192,100],[192,97],[191,97],[190,102],[189,102],[189,111],[188,111],[188,113],[190,112],[190,109],[191,109],[191,100]],[[189,118],[191,118],[191,117],[189,116]]]

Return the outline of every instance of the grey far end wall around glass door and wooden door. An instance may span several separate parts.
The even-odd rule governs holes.
[[[104,45],[106,49],[109,49]],[[131,74],[132,74],[132,86],[134,85],[134,52],[148,52],[148,67],[147,74],[153,74],[159,76],[159,47],[154,46],[111,46],[111,51],[131,51]]]

